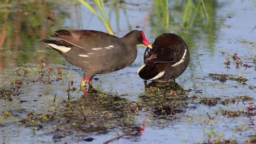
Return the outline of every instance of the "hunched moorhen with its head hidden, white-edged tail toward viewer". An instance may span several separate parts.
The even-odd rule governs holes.
[[[176,34],[161,34],[146,48],[144,65],[138,75],[153,82],[172,82],[188,67],[189,52],[184,40]]]

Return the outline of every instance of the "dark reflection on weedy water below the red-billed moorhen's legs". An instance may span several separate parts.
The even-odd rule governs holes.
[[[74,131],[82,132],[84,136],[120,131],[136,131],[139,134],[141,127],[136,122],[136,113],[130,108],[133,102],[117,94],[98,91],[92,86],[86,90],[86,94],[66,102],[58,112],[66,126],[58,128],[56,135]]]

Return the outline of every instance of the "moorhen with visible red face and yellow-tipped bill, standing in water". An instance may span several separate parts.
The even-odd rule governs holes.
[[[41,40],[59,52],[66,60],[86,71],[81,87],[92,85],[96,74],[107,74],[132,64],[137,56],[137,44],[152,48],[144,32],[132,30],[122,38],[95,30],[58,30],[52,37],[61,40]]]

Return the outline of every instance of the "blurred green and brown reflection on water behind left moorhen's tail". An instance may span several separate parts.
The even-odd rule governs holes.
[[[55,53],[44,52],[39,44],[54,31],[62,27],[69,18],[68,6],[50,1],[6,1],[0,10],[0,62],[1,70],[37,61],[39,57],[48,60]],[[58,18],[54,20],[55,15]],[[63,27],[62,27],[63,28]],[[46,56],[46,54],[48,56]]]

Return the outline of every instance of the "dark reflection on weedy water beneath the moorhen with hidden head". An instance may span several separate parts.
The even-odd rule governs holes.
[[[190,99],[186,90],[176,82],[150,82],[140,96],[151,107],[153,117],[171,119],[175,114],[186,112]]]

